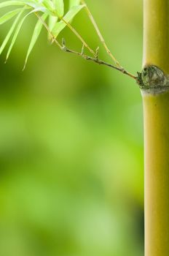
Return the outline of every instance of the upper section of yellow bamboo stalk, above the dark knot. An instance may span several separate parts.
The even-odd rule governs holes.
[[[144,0],[144,66],[169,74],[169,1]]]

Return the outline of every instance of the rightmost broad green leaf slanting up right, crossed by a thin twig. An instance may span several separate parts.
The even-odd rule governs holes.
[[[67,23],[69,23],[75,16],[76,14],[82,10],[84,5],[79,5],[72,7],[71,10],[69,10],[66,15],[63,17],[64,20],[66,20]],[[52,29],[52,34],[54,37],[58,37],[58,34],[66,27],[66,23],[63,20],[60,20],[60,22],[56,23],[54,28]]]

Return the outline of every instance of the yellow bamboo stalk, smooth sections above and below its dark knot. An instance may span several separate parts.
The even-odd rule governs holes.
[[[169,74],[169,0],[144,0],[144,63]],[[145,256],[169,256],[169,89],[142,90]]]

